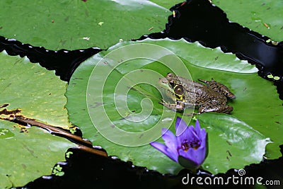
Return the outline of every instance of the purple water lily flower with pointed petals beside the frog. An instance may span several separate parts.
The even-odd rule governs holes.
[[[207,132],[200,129],[200,122],[195,127],[187,126],[184,120],[177,118],[176,134],[166,128],[162,129],[162,139],[165,144],[151,142],[151,146],[166,154],[173,161],[186,168],[199,168],[208,154]]]

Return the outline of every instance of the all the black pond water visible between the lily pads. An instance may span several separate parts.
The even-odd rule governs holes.
[[[221,47],[223,52],[232,52],[240,59],[246,59],[258,67],[258,74],[263,79],[267,75],[279,76],[274,81],[281,99],[283,99],[283,43],[272,45],[266,42],[269,38],[244,28],[238,23],[231,23],[220,8],[212,6],[207,0],[191,0],[171,8],[175,17],[169,16],[166,28],[161,33],[151,33],[139,38],[160,39],[184,38],[188,42],[199,41],[205,47]],[[17,40],[8,40],[0,36],[0,51],[6,50],[8,55],[27,56],[30,62],[39,62],[42,67],[56,71],[64,81],[69,81],[71,74],[88,57],[101,50],[96,47],[86,50],[45,50],[43,47],[32,47]],[[272,79],[269,79],[272,82]],[[281,149],[282,151],[283,149]],[[177,176],[162,175],[156,171],[133,166],[131,162],[105,158],[89,154],[78,149],[69,149],[73,154],[66,162],[58,163],[63,167],[64,176],[45,176],[25,185],[25,188],[197,188],[197,185],[183,185],[182,178],[187,176],[209,176],[210,173],[200,171],[197,175],[184,169]],[[283,151],[282,151],[283,152]],[[246,176],[262,176],[265,179],[282,180],[282,157],[260,164],[246,166]],[[236,170],[229,170],[220,176],[237,175]],[[242,185],[242,188],[245,188]],[[198,188],[214,188],[202,185]],[[215,187],[217,188],[217,187]],[[237,188],[231,185],[229,188]],[[246,185],[246,188],[250,188]]]

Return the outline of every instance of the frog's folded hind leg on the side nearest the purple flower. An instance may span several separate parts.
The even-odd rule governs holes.
[[[233,111],[233,107],[230,105],[219,105],[216,103],[206,103],[199,108],[199,113],[231,113]]]

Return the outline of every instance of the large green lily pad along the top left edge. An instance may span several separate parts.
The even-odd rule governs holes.
[[[106,49],[163,30],[171,14],[144,0],[0,1],[0,7],[0,35],[50,50]]]

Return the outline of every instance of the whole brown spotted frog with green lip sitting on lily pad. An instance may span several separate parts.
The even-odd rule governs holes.
[[[174,103],[164,100],[159,103],[178,112],[183,112],[188,107],[198,108],[197,114],[207,112],[229,114],[233,111],[233,107],[226,104],[229,99],[234,99],[236,96],[227,86],[214,79],[211,81],[198,79],[198,81],[202,83],[169,72],[166,77],[159,79],[158,86],[165,90],[166,97]]]

